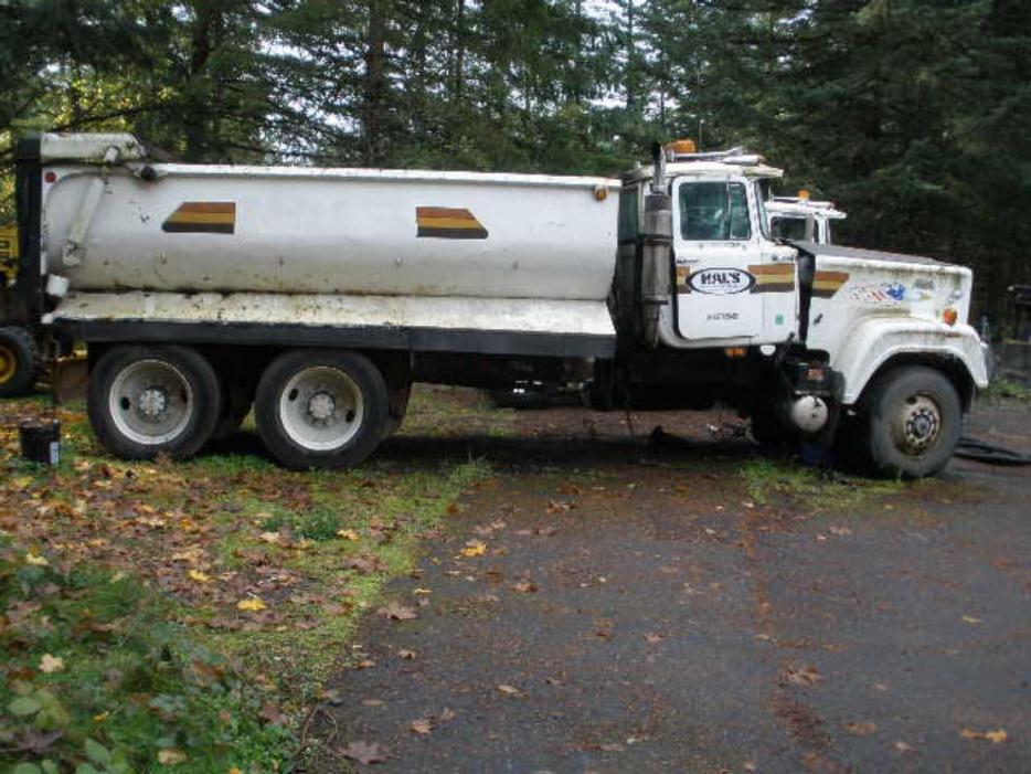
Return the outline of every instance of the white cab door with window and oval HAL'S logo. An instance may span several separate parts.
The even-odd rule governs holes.
[[[796,327],[794,251],[765,237],[754,187],[685,177],[672,193],[678,333],[699,347],[786,340]]]

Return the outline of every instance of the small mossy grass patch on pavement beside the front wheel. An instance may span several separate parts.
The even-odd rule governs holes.
[[[861,478],[828,473],[801,465],[756,458],[745,464],[742,477],[750,497],[759,505],[789,505],[809,512],[854,510],[907,487],[921,486],[897,480]]]

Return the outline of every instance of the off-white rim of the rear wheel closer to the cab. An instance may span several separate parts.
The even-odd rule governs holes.
[[[318,365],[298,371],[279,395],[283,430],[309,452],[332,452],[358,435],[365,402],[358,383],[340,369]]]

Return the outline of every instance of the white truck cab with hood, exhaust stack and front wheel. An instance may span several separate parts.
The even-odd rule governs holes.
[[[653,371],[646,353],[663,352],[668,375],[652,382],[738,409],[759,439],[849,436],[884,471],[939,470],[987,386],[970,271],[830,244],[844,213],[772,200],[782,174],[742,148],[688,141],[624,177],[613,294],[617,327],[633,331],[624,370]],[[788,216],[808,240],[778,238],[772,224]]]

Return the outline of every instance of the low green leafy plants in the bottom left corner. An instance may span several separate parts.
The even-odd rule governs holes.
[[[261,766],[291,749],[226,659],[169,623],[167,603],[123,573],[67,572],[0,550],[0,763],[23,774],[132,774]],[[47,664],[50,659],[50,664]]]

